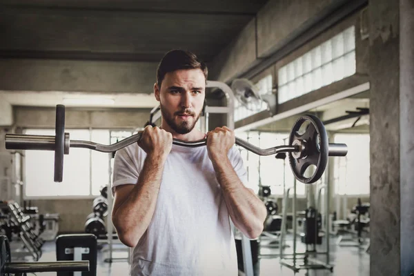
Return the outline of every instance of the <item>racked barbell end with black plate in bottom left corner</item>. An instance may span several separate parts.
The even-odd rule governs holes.
[[[11,262],[10,244],[0,236],[0,275],[26,275],[26,273],[89,271],[89,262]]]

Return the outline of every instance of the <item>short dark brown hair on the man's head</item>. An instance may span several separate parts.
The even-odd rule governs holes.
[[[193,52],[187,50],[170,50],[164,55],[157,68],[157,84],[161,88],[161,83],[168,72],[182,69],[201,69],[204,77],[208,75],[206,63],[200,61]]]

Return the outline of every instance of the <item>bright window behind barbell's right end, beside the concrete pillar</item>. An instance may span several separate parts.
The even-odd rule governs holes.
[[[334,177],[337,195],[369,195],[370,158],[368,134],[337,134],[335,143],[348,146],[346,157],[335,157]]]

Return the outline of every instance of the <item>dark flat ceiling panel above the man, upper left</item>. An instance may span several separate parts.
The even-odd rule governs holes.
[[[267,0],[2,0],[0,57],[159,61],[173,48],[208,62]]]

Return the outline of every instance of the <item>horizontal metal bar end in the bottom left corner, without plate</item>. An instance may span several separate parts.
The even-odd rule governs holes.
[[[89,271],[89,261],[79,262],[21,262],[4,264],[3,273],[36,273],[61,271]]]

